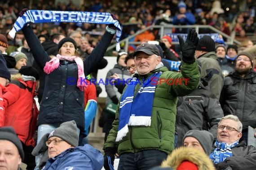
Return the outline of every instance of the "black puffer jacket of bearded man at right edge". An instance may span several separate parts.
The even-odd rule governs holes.
[[[245,77],[237,72],[230,73],[224,79],[220,98],[225,115],[237,115],[243,124],[256,127],[256,72],[251,70]]]

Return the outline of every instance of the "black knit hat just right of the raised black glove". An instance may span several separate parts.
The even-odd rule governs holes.
[[[199,39],[196,50],[207,52],[215,51],[215,42],[210,36],[204,35],[202,38]]]

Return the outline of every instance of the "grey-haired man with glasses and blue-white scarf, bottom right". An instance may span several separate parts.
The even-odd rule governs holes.
[[[243,125],[235,115],[224,116],[218,124],[212,159],[216,170],[255,170],[256,148],[242,137]]]

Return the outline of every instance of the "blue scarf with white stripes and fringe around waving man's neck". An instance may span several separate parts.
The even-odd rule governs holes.
[[[162,72],[156,72],[146,81],[134,97],[134,89],[137,83],[141,83],[137,77],[132,81],[124,91],[119,106],[119,127],[115,141],[120,141],[128,133],[129,126],[150,126],[151,113],[154,100],[156,82]],[[154,79],[154,82],[152,81]]]

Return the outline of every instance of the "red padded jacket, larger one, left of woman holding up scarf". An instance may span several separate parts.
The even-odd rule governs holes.
[[[35,81],[11,81],[4,93],[4,126],[12,126],[18,138],[27,146],[35,145],[33,139],[36,129],[38,109],[35,104]]]

